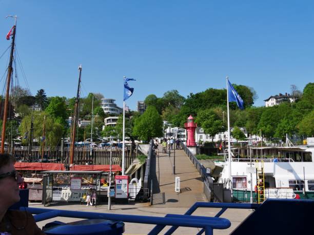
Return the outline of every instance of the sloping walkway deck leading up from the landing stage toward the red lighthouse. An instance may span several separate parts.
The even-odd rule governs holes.
[[[206,202],[204,183],[198,170],[182,149],[175,149],[175,175],[173,174],[174,150],[156,156],[156,179],[153,181],[153,205],[160,207],[189,208],[195,202]],[[175,192],[175,177],[180,177],[180,193]]]

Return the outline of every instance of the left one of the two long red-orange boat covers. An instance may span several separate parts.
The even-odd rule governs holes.
[[[41,162],[15,162],[16,170],[65,170],[62,163],[41,163]]]

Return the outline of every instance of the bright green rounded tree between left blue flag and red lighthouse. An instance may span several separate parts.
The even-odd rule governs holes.
[[[148,106],[144,114],[135,119],[133,135],[145,141],[163,135],[163,120],[154,106]]]

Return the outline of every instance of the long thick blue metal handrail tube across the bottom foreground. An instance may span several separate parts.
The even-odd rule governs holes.
[[[156,224],[159,228],[170,226],[183,226],[203,228],[205,234],[213,234],[213,229],[226,229],[230,227],[229,220],[217,217],[191,216],[191,215],[172,215],[168,214],[165,217],[152,216],[134,216],[134,215],[119,215],[112,213],[97,213],[83,212],[71,210],[53,210],[44,208],[21,207],[21,210],[26,210],[29,213],[35,214],[36,222],[51,219],[54,217],[70,217],[81,219],[106,219],[112,221],[123,221],[129,223]],[[196,208],[195,208],[196,209]],[[158,234],[159,231],[151,231],[149,234]]]

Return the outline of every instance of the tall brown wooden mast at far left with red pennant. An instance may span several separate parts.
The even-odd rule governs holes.
[[[15,24],[13,26],[10,62],[8,66],[8,75],[7,75],[7,88],[6,88],[6,98],[5,98],[3,124],[2,124],[2,136],[1,136],[1,151],[0,151],[1,154],[4,154],[4,144],[5,144],[5,139],[6,139],[6,123],[7,123],[7,117],[8,117],[10,82],[11,82],[11,75],[13,72],[12,62],[13,62],[15,32],[16,32],[16,16],[15,16]]]

